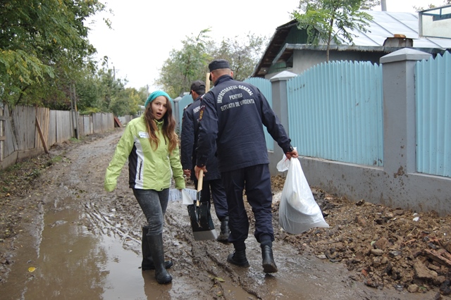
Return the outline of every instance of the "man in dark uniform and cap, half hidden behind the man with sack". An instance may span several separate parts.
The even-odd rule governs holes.
[[[199,131],[199,114],[203,107],[202,96],[205,94],[205,82],[196,80],[192,82],[190,94],[194,102],[183,110],[182,133],[181,133],[181,161],[183,173],[194,181],[197,188],[197,178],[194,175],[196,163],[197,133]],[[202,201],[210,201],[213,198],[216,216],[221,221],[221,233],[218,235],[219,242],[228,242],[230,230],[228,228],[228,208],[226,190],[218,170],[218,159],[214,156],[215,150],[209,156],[209,173],[205,174],[202,185]]]

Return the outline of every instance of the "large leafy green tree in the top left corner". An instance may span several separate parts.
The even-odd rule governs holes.
[[[95,52],[84,22],[103,9],[97,0],[1,1],[2,101],[13,106],[25,102],[27,94],[67,93],[73,84],[69,77]]]

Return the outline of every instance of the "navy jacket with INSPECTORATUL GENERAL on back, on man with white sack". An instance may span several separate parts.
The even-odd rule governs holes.
[[[290,151],[290,138],[257,87],[223,75],[202,98],[199,167],[208,167],[209,154],[216,146],[221,172],[269,163],[263,125],[285,153]]]

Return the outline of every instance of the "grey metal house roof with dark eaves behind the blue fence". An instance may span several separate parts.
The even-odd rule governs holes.
[[[352,44],[340,38],[341,44],[330,45],[330,49],[337,51],[381,51],[390,53],[400,47],[384,46],[385,39],[394,35],[405,35],[407,39],[413,39],[412,48],[428,53],[441,53],[445,49],[451,49],[451,39],[440,39],[419,36],[418,13],[396,13],[390,11],[365,11],[373,17],[366,27],[367,32],[352,30],[354,35]],[[313,46],[311,44],[289,44],[286,38],[290,30],[297,26],[297,21],[292,20],[276,28],[273,37],[266,47],[252,77],[264,77],[273,63],[287,61],[296,49],[314,49],[325,51],[326,45]]]

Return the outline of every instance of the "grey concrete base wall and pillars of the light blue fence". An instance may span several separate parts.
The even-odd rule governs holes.
[[[301,164],[310,186],[345,196],[412,211],[451,212],[451,178],[416,172],[416,100],[414,70],[417,61],[430,54],[401,49],[381,58],[383,63],[383,167],[356,165],[302,156]],[[288,127],[287,81],[295,75],[271,78],[273,109]],[[296,99],[290,99],[296,101]],[[278,103],[279,102],[279,103]],[[295,123],[290,122],[293,126]],[[280,175],[276,163],[282,151],[270,154],[271,175]],[[301,154],[302,155],[302,154]]]

